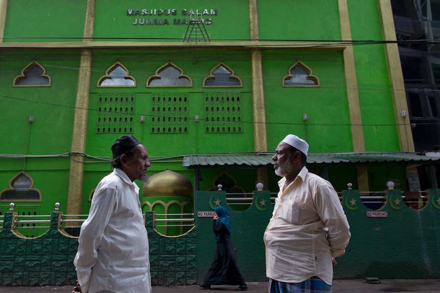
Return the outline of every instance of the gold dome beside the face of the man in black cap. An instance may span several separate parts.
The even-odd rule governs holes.
[[[142,187],[143,196],[186,196],[192,195],[191,181],[184,175],[166,170],[150,177]]]

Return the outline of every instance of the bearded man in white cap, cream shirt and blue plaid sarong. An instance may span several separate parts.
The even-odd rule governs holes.
[[[344,255],[351,236],[336,191],[305,167],[308,148],[288,135],[272,157],[283,178],[264,232],[271,293],[331,292],[334,258]]]

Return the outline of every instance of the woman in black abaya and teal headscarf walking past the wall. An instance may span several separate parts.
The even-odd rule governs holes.
[[[223,206],[214,208],[212,230],[215,234],[217,247],[211,268],[205,276],[202,288],[210,289],[211,285],[239,285],[236,291],[248,289],[245,279],[241,276],[235,259],[235,248],[231,241],[231,224],[229,212]]]

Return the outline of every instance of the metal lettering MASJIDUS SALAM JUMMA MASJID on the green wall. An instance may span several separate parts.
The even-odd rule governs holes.
[[[177,9],[127,9],[128,16],[168,16],[177,15]],[[201,20],[204,24],[211,24],[211,18],[204,18],[206,15],[217,15],[217,9],[182,9],[183,16],[202,16]],[[174,18],[173,24],[188,24],[186,18]],[[133,24],[169,24],[167,18],[136,18]]]

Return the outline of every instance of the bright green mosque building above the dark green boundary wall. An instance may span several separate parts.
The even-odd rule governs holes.
[[[337,191],[437,188],[389,1],[1,0],[0,37],[2,214],[87,214],[127,134],[151,158],[144,211],[190,212],[218,184],[276,193],[287,134]]]

